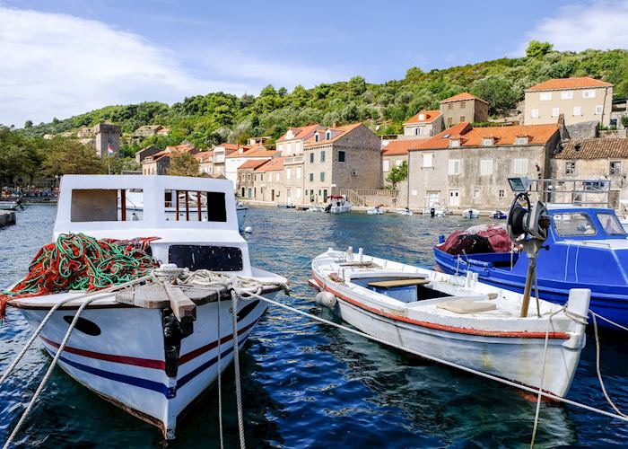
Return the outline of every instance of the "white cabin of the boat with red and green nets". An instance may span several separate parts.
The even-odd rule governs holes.
[[[197,198],[203,198],[203,207]],[[138,204],[142,207],[135,210]],[[230,180],[65,175],[55,238],[61,233],[120,240],[159,237],[150,251],[161,263],[251,276]]]

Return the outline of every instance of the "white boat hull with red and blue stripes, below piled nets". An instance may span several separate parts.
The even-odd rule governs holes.
[[[275,293],[265,296],[273,297]],[[233,359],[230,307],[231,301],[220,303],[221,372]],[[160,309],[85,309],[81,317],[96,327],[79,324],[58,364],[78,383],[160,427],[165,438],[174,438],[177,418],[217,379],[218,310],[215,302],[197,306],[194,332],[180,341],[176,375],[166,373]],[[240,301],[240,348],[265,311],[265,302]],[[32,328],[39,325],[46,313],[48,309],[22,309]],[[56,354],[74,313],[75,309],[60,309],[41,331],[39,338],[51,356]],[[93,335],[97,330],[98,334]]]

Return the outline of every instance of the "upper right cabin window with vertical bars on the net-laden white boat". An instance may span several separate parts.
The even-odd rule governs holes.
[[[166,189],[163,199],[167,220],[222,223],[227,221],[224,192]]]

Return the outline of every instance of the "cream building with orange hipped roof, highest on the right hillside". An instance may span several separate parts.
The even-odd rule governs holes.
[[[613,109],[613,84],[589,77],[544,81],[526,90],[524,124],[555,123],[564,115],[565,125],[595,120],[607,127]]]

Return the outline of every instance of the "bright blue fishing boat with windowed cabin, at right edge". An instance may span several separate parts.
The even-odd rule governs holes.
[[[582,195],[600,193],[599,188],[597,185],[591,190],[585,185],[581,190],[572,189],[571,204],[547,204],[550,228],[536,259],[539,297],[565,304],[571,288],[589,288],[593,312],[628,326],[628,235],[615,211],[603,207],[603,202],[583,206],[587,203]],[[604,181],[602,189],[607,192],[608,188],[608,181]],[[556,192],[552,193],[550,198],[556,199]],[[441,235],[433,249],[434,259],[444,271],[472,271],[481,282],[523,292],[528,270],[525,252],[449,254],[441,249],[444,241]],[[601,320],[598,324],[611,326]]]

